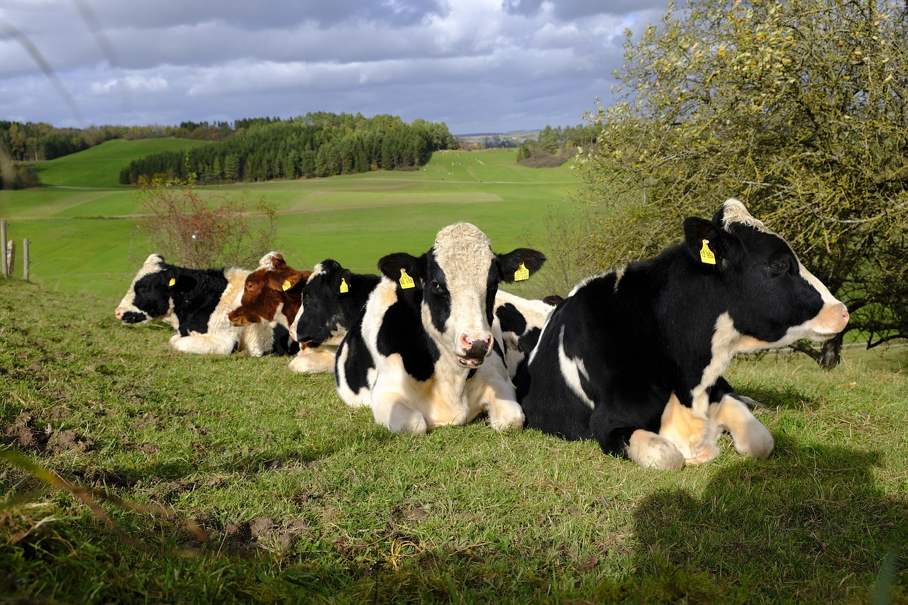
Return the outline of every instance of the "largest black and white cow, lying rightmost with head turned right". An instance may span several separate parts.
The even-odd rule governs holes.
[[[715,457],[722,431],[769,455],[772,435],[722,372],[737,352],[827,340],[848,311],[737,200],[684,234],[558,304],[517,378],[528,427],[661,469]]]

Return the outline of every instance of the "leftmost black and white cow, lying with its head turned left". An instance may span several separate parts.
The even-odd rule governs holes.
[[[240,305],[248,271],[187,269],[164,263],[151,254],[114,310],[124,324],[158,320],[177,330],[171,346],[177,351],[253,356],[271,352],[274,331],[267,322],[234,326],[227,314]]]

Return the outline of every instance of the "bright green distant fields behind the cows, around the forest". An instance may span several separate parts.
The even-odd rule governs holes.
[[[0,192],[9,237],[31,247],[32,281],[63,293],[94,293],[116,302],[153,251],[135,231],[140,212],[132,187],[116,183],[129,160],[199,142],[109,141],[40,165],[55,186]],[[545,217],[578,183],[568,165],[525,168],[516,152],[439,152],[412,172],[351,174],[325,179],[203,187],[239,196],[248,190],[278,208],[277,247],[309,268],[334,258],[373,272],[387,253],[422,253],[449,223],[469,221],[493,247],[544,249]],[[69,189],[66,187],[79,187]],[[268,251],[261,251],[262,253]],[[17,264],[16,274],[21,274]]]

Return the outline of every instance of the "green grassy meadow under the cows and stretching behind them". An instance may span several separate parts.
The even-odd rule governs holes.
[[[453,220],[541,248],[576,180],[527,171],[449,153],[247,187],[281,208],[291,263],[371,270]],[[849,349],[833,372],[736,360],[726,378],[767,406],[766,461],[727,438],[661,472],[482,421],[392,435],[330,375],[180,354],[169,327],[117,322],[150,252],[128,188],[2,194],[40,252],[35,283],[0,281],[0,601],[908,603],[903,348]]]

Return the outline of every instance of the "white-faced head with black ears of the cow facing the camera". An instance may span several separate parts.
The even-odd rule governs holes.
[[[536,250],[492,252],[489,238],[470,223],[439,231],[428,253],[395,253],[379,269],[398,283],[400,296],[421,300],[422,323],[465,368],[478,367],[492,351],[492,313],[498,283],[527,279],[545,263]]]

